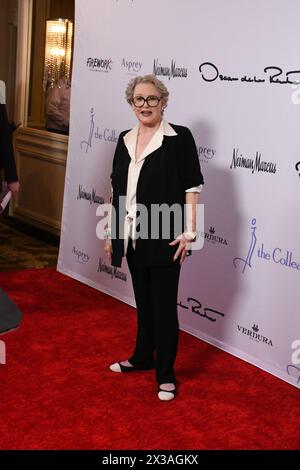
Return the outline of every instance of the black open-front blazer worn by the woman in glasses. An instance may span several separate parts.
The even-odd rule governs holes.
[[[145,158],[137,183],[136,202],[144,204],[149,209],[149,233],[151,233],[151,204],[171,206],[177,203],[183,209],[185,190],[203,184],[197,148],[190,130],[183,126],[173,124],[171,126],[177,135],[165,135],[161,147]],[[121,266],[124,256],[122,233],[126,216],[125,196],[130,156],[123,137],[127,132],[120,134],[111,174],[112,205],[116,211],[116,218],[112,217],[111,221],[112,265],[117,267]],[[123,196],[121,203],[120,196]],[[182,218],[179,233],[175,230],[175,226],[171,226],[168,239],[138,238],[135,246],[135,263],[145,266],[174,264],[173,256],[178,246],[169,246],[169,243],[183,231],[184,220]]]

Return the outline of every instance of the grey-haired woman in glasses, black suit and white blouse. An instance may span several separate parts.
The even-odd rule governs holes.
[[[138,123],[120,134],[116,147],[113,216],[104,243],[113,266],[121,266],[122,257],[127,258],[138,324],[132,356],[110,369],[124,373],[155,368],[160,400],[176,395],[180,267],[196,240],[196,204],[203,184],[191,132],[163,119],[168,96],[154,75],[136,77],[127,86],[126,99]],[[191,208],[188,220],[184,220],[186,204]],[[162,227],[166,218],[154,220],[154,210],[161,205],[180,209],[179,217],[169,217],[167,235]]]

